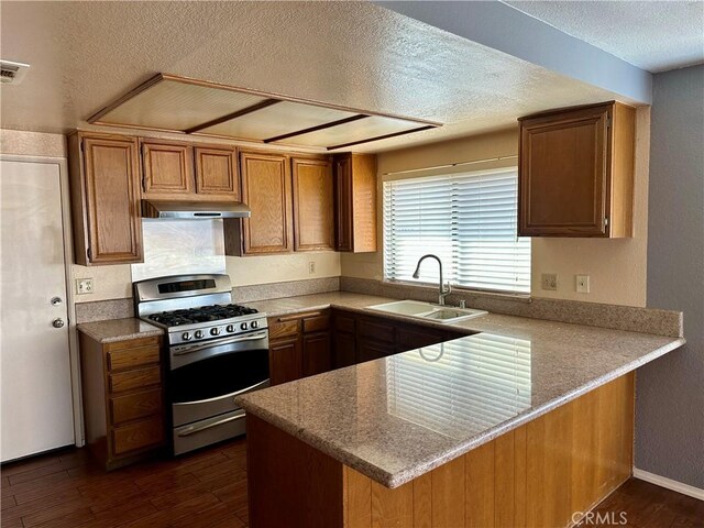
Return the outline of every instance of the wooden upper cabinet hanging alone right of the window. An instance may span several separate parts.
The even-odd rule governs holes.
[[[632,235],[635,118],[612,101],[519,120],[519,235]]]

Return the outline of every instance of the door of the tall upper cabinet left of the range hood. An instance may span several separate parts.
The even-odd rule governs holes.
[[[82,151],[88,243],[76,262],[142,262],[136,139],[85,136]]]

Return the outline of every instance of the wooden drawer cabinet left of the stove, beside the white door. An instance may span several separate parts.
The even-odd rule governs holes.
[[[88,448],[108,470],[154,454],[166,439],[161,338],[79,339]]]

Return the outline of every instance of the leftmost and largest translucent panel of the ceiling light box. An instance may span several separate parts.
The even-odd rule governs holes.
[[[265,100],[255,94],[162,79],[89,122],[183,132]]]

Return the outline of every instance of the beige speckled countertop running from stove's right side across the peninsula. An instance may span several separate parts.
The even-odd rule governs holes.
[[[251,306],[274,317],[328,307],[380,315],[365,307],[391,300],[396,299],[340,292]],[[397,487],[684,343],[493,314],[452,327],[485,333],[257,391],[238,402]]]

